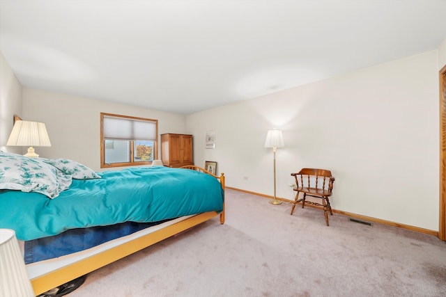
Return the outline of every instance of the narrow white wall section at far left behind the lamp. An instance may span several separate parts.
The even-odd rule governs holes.
[[[22,115],[22,85],[0,51],[0,150],[22,153],[22,147],[6,147],[14,115]]]

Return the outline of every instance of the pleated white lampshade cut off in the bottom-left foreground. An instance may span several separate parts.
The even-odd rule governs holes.
[[[36,296],[14,230],[0,229],[0,297]]]

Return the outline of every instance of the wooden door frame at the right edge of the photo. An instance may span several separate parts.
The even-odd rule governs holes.
[[[440,70],[440,218],[438,238],[446,241],[446,65]]]

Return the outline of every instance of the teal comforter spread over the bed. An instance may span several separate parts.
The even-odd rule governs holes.
[[[147,223],[223,210],[220,182],[204,173],[162,166],[98,172],[73,179],[54,199],[40,193],[0,190],[0,228],[31,240],[74,228]]]

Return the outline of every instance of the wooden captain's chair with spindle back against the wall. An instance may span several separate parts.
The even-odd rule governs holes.
[[[332,207],[330,206],[330,200],[328,199],[332,195],[334,177],[330,170],[317,169],[317,168],[303,168],[298,173],[291,173],[295,178],[296,191],[293,207],[291,208],[291,215],[293,214],[295,204],[302,202],[302,208],[305,203],[317,205],[323,207],[325,213],[325,222],[328,225],[328,211],[333,215]],[[303,198],[299,199],[299,194],[303,193]],[[307,196],[314,198],[321,198],[322,204],[312,201],[306,201]]]

